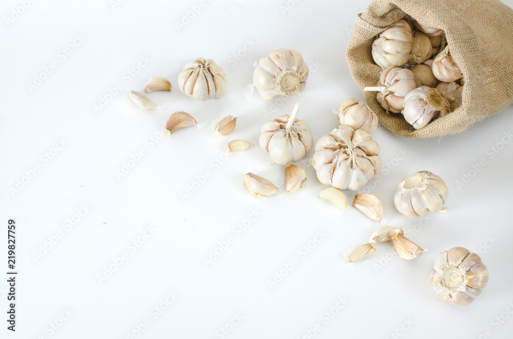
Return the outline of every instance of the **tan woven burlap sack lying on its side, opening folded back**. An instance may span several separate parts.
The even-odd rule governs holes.
[[[402,114],[387,113],[376,92],[364,92],[380,123],[407,138],[456,134],[513,103],[513,10],[497,0],[374,0],[356,18],[346,50],[358,87],[376,86],[381,68],[371,55],[372,41],[405,15],[445,31],[452,58],[466,83],[460,108],[415,130]]]

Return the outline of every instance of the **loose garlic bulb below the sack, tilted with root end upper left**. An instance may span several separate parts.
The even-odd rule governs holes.
[[[449,190],[442,178],[428,171],[420,171],[401,180],[393,203],[406,217],[417,218],[427,216],[429,211],[439,211],[448,195]]]

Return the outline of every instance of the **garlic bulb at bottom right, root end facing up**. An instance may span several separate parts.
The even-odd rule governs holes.
[[[469,305],[488,284],[488,269],[481,258],[464,247],[443,251],[434,266],[431,286],[447,304]]]

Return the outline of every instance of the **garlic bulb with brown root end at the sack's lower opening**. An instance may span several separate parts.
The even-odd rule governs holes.
[[[450,104],[436,88],[421,86],[404,98],[404,119],[418,130],[433,118],[441,118],[450,112]]]

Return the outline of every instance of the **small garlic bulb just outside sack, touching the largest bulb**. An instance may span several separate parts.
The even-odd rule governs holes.
[[[372,133],[378,126],[378,116],[369,107],[357,99],[345,99],[339,106],[339,110],[333,110],[337,114],[339,123],[349,126],[353,130],[364,130]]]

